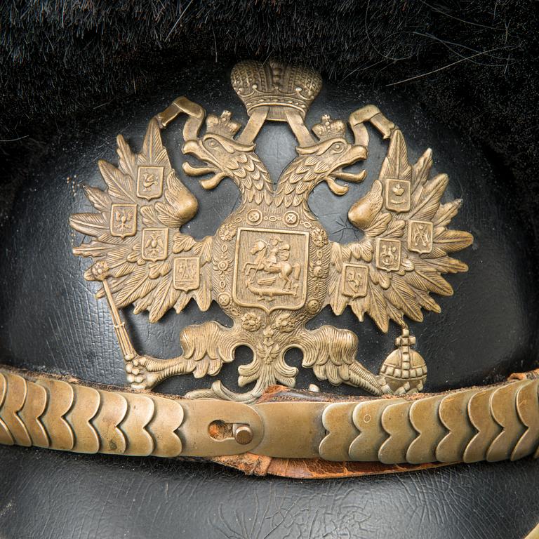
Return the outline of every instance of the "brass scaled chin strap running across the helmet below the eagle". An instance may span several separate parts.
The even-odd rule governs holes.
[[[432,396],[255,404],[180,399],[0,368],[0,443],[81,453],[250,452],[386,465],[539,456],[539,379]]]

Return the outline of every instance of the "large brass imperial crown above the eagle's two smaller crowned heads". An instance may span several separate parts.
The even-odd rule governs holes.
[[[305,118],[322,86],[320,75],[312,69],[275,60],[239,62],[230,80],[249,116],[258,107],[268,107],[266,119],[274,121],[286,121],[286,111],[290,109]]]

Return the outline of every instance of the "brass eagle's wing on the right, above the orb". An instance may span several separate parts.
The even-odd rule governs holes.
[[[448,253],[473,237],[447,228],[461,201],[441,204],[448,177],[430,178],[431,167],[430,149],[411,165],[401,131],[393,132],[378,180],[350,209],[364,239],[332,244],[328,304],[335,314],[350,305],[360,321],[368,314],[386,332],[390,320],[406,326],[404,317],[422,321],[422,309],[440,312],[430,293],[453,293],[442,274],[467,265]]]

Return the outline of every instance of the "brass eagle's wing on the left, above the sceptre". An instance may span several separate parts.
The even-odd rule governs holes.
[[[93,237],[74,254],[106,267],[117,307],[147,310],[149,321],[158,321],[172,307],[180,312],[191,298],[207,310],[211,238],[195,241],[180,233],[198,203],[171,167],[157,121],[150,121],[140,154],[131,152],[121,135],[117,142],[118,166],[99,163],[107,189],[85,188],[98,213],[70,219],[75,230]],[[95,279],[93,267],[85,272],[88,280]],[[98,296],[103,294],[101,289]]]

